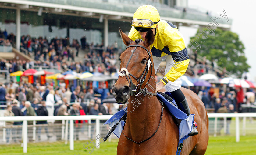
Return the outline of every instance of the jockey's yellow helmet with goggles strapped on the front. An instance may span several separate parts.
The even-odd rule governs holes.
[[[134,28],[156,28],[160,22],[160,15],[152,5],[140,6],[133,15],[132,25]]]

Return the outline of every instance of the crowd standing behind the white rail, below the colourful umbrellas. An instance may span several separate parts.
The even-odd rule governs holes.
[[[113,98],[111,90],[107,93],[106,98]],[[102,103],[101,98],[94,96],[94,90],[82,89],[77,86],[74,91],[69,88],[65,89],[60,86],[53,89],[52,86],[40,86],[32,84],[17,85],[9,83],[8,85],[1,84],[0,86],[0,103],[1,109],[6,107],[4,116],[68,116],[68,115],[109,115],[114,114],[122,107],[117,109],[112,103]],[[51,121],[50,121],[51,122]],[[33,122],[28,122],[32,124]],[[37,124],[47,124],[47,121],[37,121]],[[55,124],[62,123],[61,121],[52,122]],[[75,121],[78,123],[85,123],[85,121]],[[21,125],[22,122],[7,122],[7,125]],[[37,128],[38,140],[41,140],[41,129],[44,127],[47,138],[52,135],[48,132],[47,126],[39,126]],[[31,132],[30,132],[31,130]],[[56,128],[57,140],[61,139],[60,128]],[[78,139],[78,127],[75,127],[75,136]],[[20,128],[6,130],[7,143],[9,143],[10,132],[12,140],[18,142],[21,140]],[[28,128],[28,140],[32,141],[32,127]]]

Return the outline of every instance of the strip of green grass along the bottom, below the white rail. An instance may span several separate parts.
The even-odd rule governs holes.
[[[64,142],[53,143],[28,143],[28,153],[22,153],[23,148],[20,145],[0,145],[1,155],[86,155],[91,151],[83,150],[83,145],[88,141],[75,141],[74,150],[69,150],[69,144]],[[100,149],[96,149],[92,144],[87,144],[86,147],[93,146],[94,151],[91,155],[115,155],[118,140],[112,142],[100,143]],[[247,155],[256,154],[256,136],[240,136],[240,142],[236,143],[235,136],[218,136],[209,137],[209,143],[206,151],[207,155]]]

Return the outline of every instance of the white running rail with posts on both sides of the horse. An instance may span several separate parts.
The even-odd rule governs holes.
[[[74,120],[88,120],[89,130],[88,135],[91,135],[91,120],[96,120],[96,137],[100,134],[100,120],[108,120],[112,115],[84,115],[84,116],[18,116],[18,117],[0,117],[0,120],[3,121],[3,140],[5,141],[5,122],[6,121],[23,121],[22,124],[22,135],[23,135],[23,153],[27,153],[27,121],[33,121],[33,139],[35,138],[35,124],[36,121],[43,120],[62,120],[62,139],[65,139],[65,144],[68,141],[68,121],[69,122],[69,140],[70,140],[70,150],[74,150]],[[236,142],[240,140],[239,134],[239,119],[243,118],[243,135],[245,135],[245,122],[248,117],[256,117],[256,113],[209,113],[208,118],[215,118],[214,120],[214,136],[217,135],[217,120],[218,118],[224,118],[224,132],[226,132],[227,118],[234,117],[236,118]],[[99,148],[99,142],[95,142],[96,148]]]

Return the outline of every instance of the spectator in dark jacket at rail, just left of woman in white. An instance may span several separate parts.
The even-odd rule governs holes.
[[[45,101],[42,101],[42,106],[39,106],[38,107],[38,110],[37,110],[37,115],[38,116],[48,116],[48,111],[46,109],[46,104],[45,104]],[[37,121],[37,124],[47,124],[47,121]],[[41,130],[42,130],[42,126],[39,126],[37,128],[37,134],[38,134],[38,140],[41,140]],[[47,126],[44,126],[44,130],[45,130],[45,133],[47,135],[47,138],[51,138],[52,136],[49,135],[49,131],[48,131],[48,127]]]

